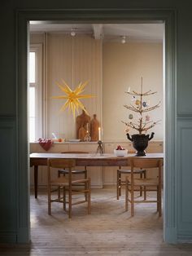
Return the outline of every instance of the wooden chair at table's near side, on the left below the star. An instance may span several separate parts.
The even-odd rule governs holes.
[[[73,179],[72,170],[76,166],[76,161],[72,159],[63,159],[63,158],[54,158],[47,160],[47,168],[48,168],[48,214],[51,214],[51,203],[52,202],[60,202],[63,203],[63,210],[68,211],[68,217],[72,218],[72,205],[78,205],[81,203],[87,203],[88,214],[90,214],[90,179]],[[60,176],[53,178],[51,173],[53,172],[53,168],[68,170],[68,177]],[[73,188],[74,185],[84,183],[84,187],[76,187]],[[58,192],[63,190],[63,196],[59,196],[60,194],[56,193],[56,197],[53,199],[51,194],[52,192]],[[68,196],[66,195],[68,192]],[[79,200],[76,198],[76,201],[73,202],[73,195],[84,194],[86,195],[86,199]],[[68,200],[67,200],[68,198]],[[66,209],[66,205],[68,204],[68,210]]]

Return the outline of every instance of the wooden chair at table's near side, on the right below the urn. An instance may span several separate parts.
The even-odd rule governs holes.
[[[159,212],[159,217],[161,216],[161,170],[163,166],[162,159],[147,159],[147,158],[132,158],[130,159],[131,165],[131,177],[126,177],[125,186],[125,210],[128,210],[129,202],[131,204],[131,216],[134,216],[134,203],[157,203],[157,211]],[[136,179],[134,177],[134,168],[157,168],[159,170],[159,175],[157,179]],[[137,201],[134,198],[134,188],[135,187],[145,188],[146,191],[151,191],[150,188],[155,188],[157,192],[156,200]],[[130,199],[129,199],[130,193]]]

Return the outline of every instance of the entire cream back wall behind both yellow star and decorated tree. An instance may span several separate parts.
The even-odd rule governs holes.
[[[74,43],[73,85],[72,40]],[[73,89],[79,82],[89,80],[85,93],[96,95],[96,97],[82,99],[82,102],[91,117],[96,113],[98,121],[103,120],[103,139],[126,139],[124,132],[126,127],[121,121],[128,121],[130,112],[123,105],[130,104],[131,97],[124,91],[128,90],[129,86],[131,90],[140,90],[141,77],[143,77],[144,90],[158,91],[157,94],[150,96],[151,106],[161,100],[160,108],[149,113],[151,120],[161,121],[149,132],[155,132],[154,140],[164,139],[163,45],[161,43],[107,42],[102,46],[101,41],[89,36],[78,36],[72,39],[71,36],[63,33],[32,34],[31,43],[39,42],[43,44],[46,57],[44,72],[47,75],[44,76],[43,108],[47,122],[47,130],[44,130],[45,137],[51,137],[51,133],[55,132],[66,139],[76,138],[76,124],[72,114],[68,111],[59,112],[65,101],[51,98],[55,95],[63,95],[56,85],[56,82],[61,82],[63,79]],[[133,134],[135,131],[130,133]]]

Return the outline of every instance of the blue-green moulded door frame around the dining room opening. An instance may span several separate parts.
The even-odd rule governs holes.
[[[176,11],[158,9],[32,10],[16,13],[16,117],[18,242],[30,241],[29,145],[28,145],[28,49],[30,20],[64,23],[164,22],[164,241],[177,243],[176,106],[177,55]],[[166,109],[166,111],[165,111]],[[28,170],[28,171],[26,171]]]

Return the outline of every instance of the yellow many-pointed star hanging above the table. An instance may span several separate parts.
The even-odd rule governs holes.
[[[73,118],[75,119],[76,113],[79,112],[79,108],[83,109],[85,113],[87,113],[84,105],[81,103],[80,99],[88,99],[94,97],[94,95],[82,95],[81,93],[85,90],[85,86],[88,82],[80,82],[78,86],[76,86],[75,90],[72,90],[66,82],[63,82],[63,85],[57,83],[59,88],[63,90],[66,95],[55,96],[53,99],[67,99],[66,103],[63,104],[60,111],[64,111],[68,108],[69,111],[72,111]],[[88,114],[88,113],[87,113]]]

